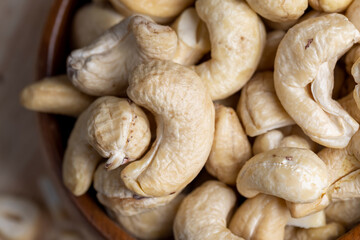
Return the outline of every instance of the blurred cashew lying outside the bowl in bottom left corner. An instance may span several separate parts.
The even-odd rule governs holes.
[[[40,209],[29,200],[0,196],[0,239],[35,240],[40,231]]]

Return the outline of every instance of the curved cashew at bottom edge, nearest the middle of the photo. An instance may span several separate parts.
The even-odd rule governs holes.
[[[227,228],[236,196],[218,181],[208,181],[185,197],[174,221],[176,240],[242,240]]]

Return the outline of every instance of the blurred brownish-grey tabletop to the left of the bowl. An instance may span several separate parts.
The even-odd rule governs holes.
[[[36,239],[101,239],[53,175],[36,113],[19,102],[21,89],[35,79],[40,38],[53,2],[0,1],[0,218],[2,196],[11,195],[40,209],[43,225]]]

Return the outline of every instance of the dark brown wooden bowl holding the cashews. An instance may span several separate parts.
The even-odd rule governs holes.
[[[85,0],[55,0],[43,31],[37,62],[37,79],[66,73],[66,58],[70,53],[69,34],[74,12]],[[64,146],[74,124],[74,119],[64,116],[38,113],[43,146],[53,171],[62,182],[62,159]],[[63,185],[65,188],[65,186]],[[66,188],[65,188],[66,189]],[[68,190],[67,195],[94,226],[107,239],[134,240],[120,226],[112,221],[95,200],[95,190],[90,189],[81,197],[75,197]],[[340,239],[360,239],[360,225],[354,227]]]

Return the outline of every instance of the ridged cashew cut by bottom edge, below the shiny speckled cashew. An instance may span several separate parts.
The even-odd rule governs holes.
[[[247,199],[231,218],[229,229],[244,239],[284,239],[289,211],[285,201],[259,194]]]

